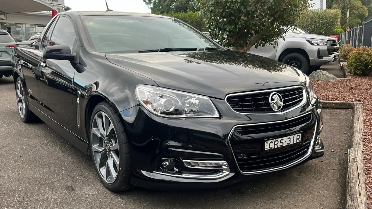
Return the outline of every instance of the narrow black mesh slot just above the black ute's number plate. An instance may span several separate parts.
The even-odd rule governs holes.
[[[235,131],[240,135],[264,134],[275,131],[283,131],[311,122],[311,116],[311,114],[307,114],[284,122],[238,126],[235,128]]]

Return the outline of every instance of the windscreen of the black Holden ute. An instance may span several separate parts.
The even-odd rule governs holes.
[[[132,53],[160,48],[218,48],[176,19],[144,16],[83,16],[98,52]]]

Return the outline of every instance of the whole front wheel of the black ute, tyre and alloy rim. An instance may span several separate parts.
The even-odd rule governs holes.
[[[90,133],[93,163],[103,185],[113,192],[130,189],[129,142],[118,113],[108,102],[94,108]]]

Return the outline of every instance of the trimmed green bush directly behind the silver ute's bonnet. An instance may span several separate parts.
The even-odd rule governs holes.
[[[340,27],[341,12],[338,9],[308,10],[302,13],[297,27],[318,35],[333,35]]]

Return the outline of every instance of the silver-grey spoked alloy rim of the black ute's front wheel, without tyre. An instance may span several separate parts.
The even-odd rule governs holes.
[[[113,183],[119,172],[119,141],[109,116],[100,111],[94,115],[91,147],[98,173],[107,183]]]

